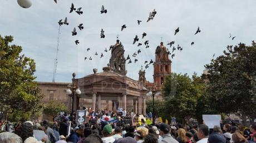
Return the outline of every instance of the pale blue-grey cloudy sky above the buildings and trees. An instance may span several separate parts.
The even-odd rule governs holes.
[[[13,44],[23,47],[23,54],[35,59],[37,81],[52,81],[53,64],[56,56],[58,21],[68,18],[67,25],[62,25],[60,35],[60,50],[56,81],[71,81],[72,73],[77,78],[92,74],[92,69],[102,71],[109,63],[110,52],[105,53],[110,45],[116,43],[116,35],[125,48],[125,57],[141,49],[139,61],[136,64],[126,64],[127,76],[138,79],[138,72],[145,60],[155,59],[155,48],[161,38],[167,42],[175,40],[175,47],[179,44],[183,51],[176,51],[172,60],[172,72],[194,72],[199,75],[204,65],[210,62],[213,54],[221,55],[227,45],[240,42],[251,44],[256,37],[256,1],[152,1],[152,0],[60,0],[57,4],[51,0],[35,1],[28,9],[18,6],[17,1],[1,0],[0,4],[0,34],[13,35]],[[75,7],[82,7],[83,14],[69,13],[71,3]],[[101,6],[107,9],[106,14],[100,14]],[[149,12],[156,9],[155,18],[146,22]],[[142,22],[137,24],[137,19]],[[78,30],[77,25],[83,23],[84,29]],[[121,25],[127,28],[121,32]],[[71,35],[76,27],[77,35]],[[174,30],[180,27],[180,32],[174,35]],[[201,33],[194,35],[197,27]],[[105,30],[106,38],[100,38],[100,30]],[[141,40],[141,35],[147,35]],[[229,33],[236,36],[229,39]],[[150,48],[145,45],[132,45],[133,38],[138,35],[141,43],[149,40]],[[80,40],[75,45],[75,40]],[[195,44],[191,47],[190,43]],[[90,52],[86,49],[91,48]],[[94,54],[104,54],[104,58]],[[93,60],[84,60],[92,56]],[[147,80],[152,81],[153,68],[146,69]]]

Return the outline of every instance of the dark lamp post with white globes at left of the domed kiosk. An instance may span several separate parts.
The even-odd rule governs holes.
[[[81,90],[80,90],[80,88],[75,83],[72,83],[72,84],[67,86],[66,93],[68,94],[68,96],[72,97],[72,107],[71,107],[71,114],[70,114],[71,118],[70,118],[70,121],[73,122],[74,96],[75,96],[75,94],[80,95],[81,94]]]

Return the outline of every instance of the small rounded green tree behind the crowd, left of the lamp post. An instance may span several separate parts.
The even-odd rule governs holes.
[[[60,101],[50,101],[43,107],[43,113],[46,115],[56,116],[61,111],[68,111],[67,106]]]

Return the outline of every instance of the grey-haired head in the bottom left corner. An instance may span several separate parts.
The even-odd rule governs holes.
[[[22,143],[21,137],[12,132],[2,132],[0,134],[1,143]]]

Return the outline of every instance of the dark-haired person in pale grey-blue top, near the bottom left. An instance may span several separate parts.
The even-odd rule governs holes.
[[[38,141],[45,140],[46,143],[50,142],[48,136],[45,134],[45,127],[41,126],[39,123],[33,125],[33,135]]]

